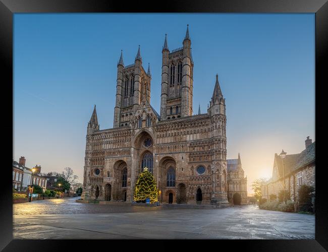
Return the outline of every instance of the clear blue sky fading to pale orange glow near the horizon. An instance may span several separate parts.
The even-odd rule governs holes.
[[[194,112],[218,74],[228,158],[240,152],[248,191],[271,175],[274,154],[301,152],[314,135],[314,14],[15,14],[14,155],[42,171],[72,167],[82,182],[87,122],[113,127],[117,62],[150,62],[159,113],[161,49],[182,46],[189,24]]]

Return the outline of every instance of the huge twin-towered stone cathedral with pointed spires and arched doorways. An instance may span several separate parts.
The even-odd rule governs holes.
[[[147,167],[160,203],[247,204],[240,156],[226,159],[226,104],[217,75],[207,112],[199,108],[193,115],[193,68],[188,26],[180,48],[170,51],[166,35],[158,114],[140,46],[131,65],[124,65],[121,52],[113,129],[99,129],[95,106],[88,122],[82,200],[133,202]]]

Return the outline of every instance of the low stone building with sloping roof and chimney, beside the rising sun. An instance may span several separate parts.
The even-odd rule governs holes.
[[[315,188],[315,142],[307,137],[305,150],[298,154],[286,155],[284,159],[286,191],[290,192],[290,199],[298,201],[298,190],[302,184]],[[270,195],[276,195],[284,190],[283,161],[276,153],[272,177],[261,186],[262,198],[269,200]]]

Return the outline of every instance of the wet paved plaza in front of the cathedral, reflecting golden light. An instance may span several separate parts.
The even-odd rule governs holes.
[[[314,215],[259,210],[83,204],[77,198],[14,205],[14,239],[314,239]]]

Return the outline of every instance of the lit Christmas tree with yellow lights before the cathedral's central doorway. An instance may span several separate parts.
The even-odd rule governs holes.
[[[135,186],[134,201],[140,202],[149,198],[150,203],[155,203],[157,202],[157,193],[156,181],[151,172],[145,167],[143,172],[140,173]]]

